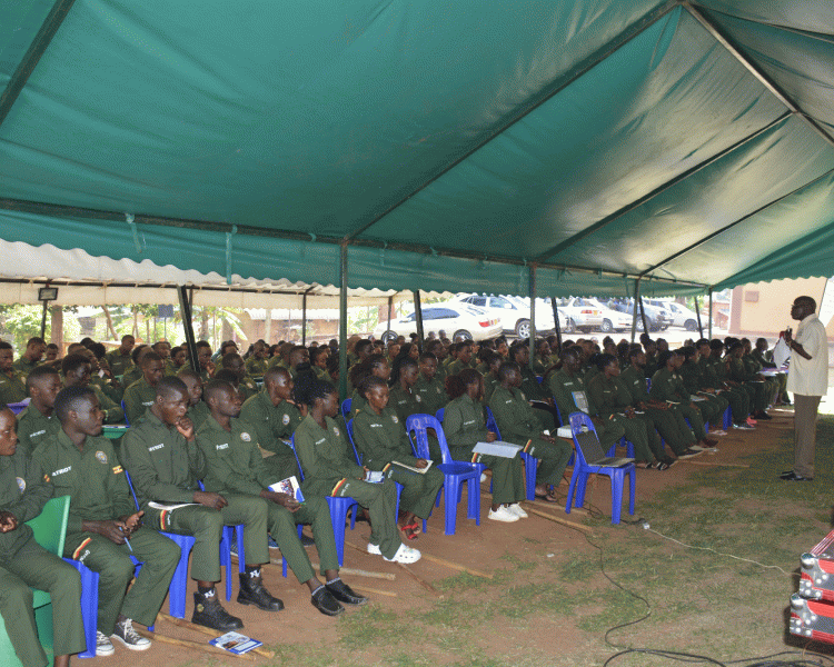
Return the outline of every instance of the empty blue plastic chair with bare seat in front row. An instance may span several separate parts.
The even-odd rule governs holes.
[[[475,525],[480,526],[480,469],[474,464],[455,461],[449,454],[446,444],[446,435],[443,432],[440,422],[431,415],[411,415],[406,419],[406,430],[414,431],[417,445],[417,454],[421,458],[428,458],[428,429],[435,429],[437,442],[440,447],[441,462],[435,467],[443,472],[443,491],[445,494],[445,535],[455,535],[457,522],[457,504],[463,494],[461,482],[466,482],[468,490],[468,502],[466,518],[475,519]],[[438,499],[440,495],[438,492]],[[425,526],[425,521],[424,521]],[[424,528],[425,530],[425,528]]]

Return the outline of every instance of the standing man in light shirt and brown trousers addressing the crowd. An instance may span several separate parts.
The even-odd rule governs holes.
[[[811,297],[798,297],[791,307],[791,317],[800,321],[795,337],[790,329],[785,331],[785,342],[793,352],[787,390],[794,395],[794,469],[780,477],[785,481],[812,481],[816,412],[820,399],[828,391],[828,340]]]

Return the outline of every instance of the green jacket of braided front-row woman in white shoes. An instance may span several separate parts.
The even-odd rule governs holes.
[[[342,429],[325,417],[322,429],[311,415],[307,415],[296,429],[296,454],[304,470],[301,488],[305,494],[338,494],[336,488],[342,479],[364,479],[365,470],[350,454]]]

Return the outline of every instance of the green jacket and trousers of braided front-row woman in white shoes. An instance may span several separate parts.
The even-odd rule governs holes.
[[[301,489],[306,498],[332,496],[354,498],[370,514],[368,542],[379,547],[383,556],[394,558],[403,541],[397,530],[397,487],[386,479],[383,484],[361,481],[365,470],[353,454],[345,434],[329,417],[322,429],[308,415],[296,429],[296,451],[304,470]]]

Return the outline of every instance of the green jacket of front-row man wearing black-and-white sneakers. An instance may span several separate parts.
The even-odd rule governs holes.
[[[34,450],[32,458],[52,482],[56,496],[70,496],[67,534],[81,532],[81,522],[130,516],[136,505],[111,440],[88,436],[83,450],[59,430]]]

